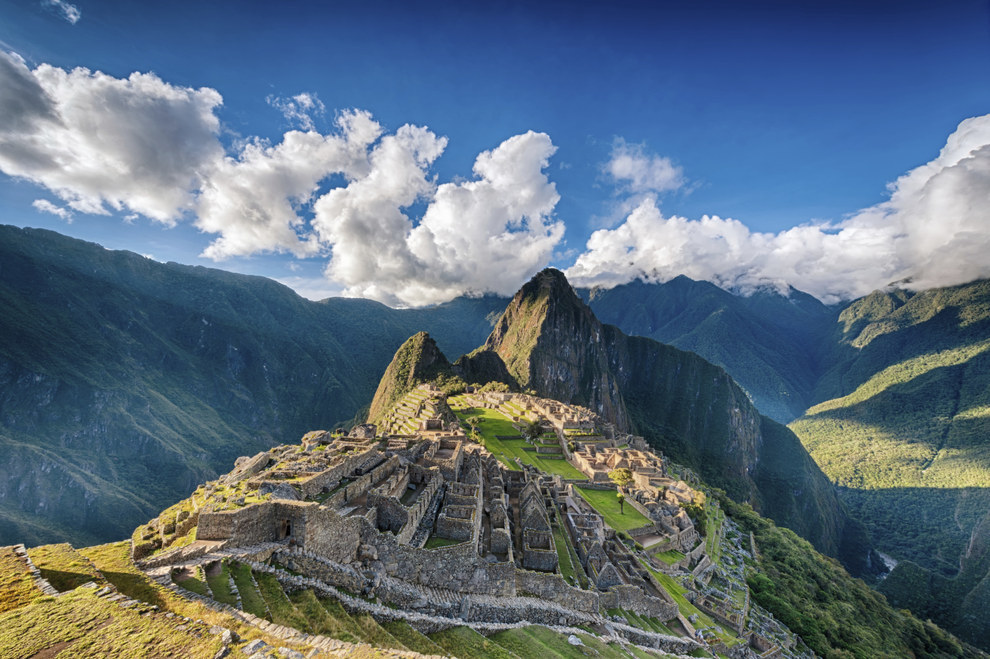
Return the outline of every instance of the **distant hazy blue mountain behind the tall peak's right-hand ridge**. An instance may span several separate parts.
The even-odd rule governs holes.
[[[728,371],[756,407],[780,423],[812,403],[821,347],[835,311],[794,288],[734,295],[685,276],[578,291],[595,315],[626,334],[697,353]]]

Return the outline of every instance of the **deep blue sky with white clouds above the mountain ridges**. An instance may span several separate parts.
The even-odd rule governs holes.
[[[67,128],[28,140],[12,112],[0,115],[0,135],[17,136],[0,140],[0,221],[390,304],[511,292],[545,265],[586,284],[685,272],[830,301],[906,277],[990,275],[974,249],[990,245],[977,208],[990,158],[986,2],[534,4],[2,0],[0,50],[15,64],[0,94],[30,95],[9,81],[38,78]],[[89,72],[56,84],[39,67]],[[161,83],[125,95],[175,101],[172,90],[209,88],[222,103],[197,96],[206,106],[195,121],[173,103],[172,132],[157,135],[158,106],[102,102],[97,71]],[[272,186],[252,208],[290,197],[295,220],[269,218],[262,230],[221,212],[251,195],[232,192],[243,171],[222,177],[215,163],[244,160],[246,144],[277,147],[291,130],[343,135],[338,119],[352,110],[377,125],[364,160],[305,175],[297,163],[305,180],[292,193],[250,179]],[[31,158],[55,153],[51,141],[74,144],[101,113],[96,124],[131,127],[138,142],[165,140],[151,151],[175,169],[164,163],[130,188],[71,164],[32,169]],[[406,125],[429,135],[396,137],[400,165],[384,141]],[[210,139],[217,148],[200,152]],[[56,166],[114,151],[91,142],[59,152]],[[379,146],[380,167],[369,164]],[[501,155],[480,175],[472,168],[486,151]],[[143,169],[134,153],[108,162]],[[196,176],[177,181],[187,165]],[[378,180],[409,187],[376,195]],[[169,186],[188,189],[142,201]],[[346,194],[327,195],[334,188]],[[948,201],[931,208],[933,196]],[[161,210],[170,203],[174,212]],[[430,231],[414,231],[431,206]],[[458,222],[464,236],[451,235]],[[218,237],[222,260],[203,256]]]

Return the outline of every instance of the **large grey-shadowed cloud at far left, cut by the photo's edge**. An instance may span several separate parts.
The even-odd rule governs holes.
[[[223,150],[213,89],[154,74],[118,79],[0,52],[0,171],[51,190],[73,210],[174,223]],[[108,208],[109,207],[109,208]]]

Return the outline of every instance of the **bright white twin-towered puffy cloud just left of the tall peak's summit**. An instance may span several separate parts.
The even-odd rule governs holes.
[[[426,168],[445,145],[403,127],[376,147],[367,177],[316,202],[314,225],[333,250],[327,275],[345,294],[405,305],[510,294],[549,261],[564,233],[543,172],[550,138],[512,137],[478,156],[475,180],[434,187]],[[417,199],[429,206],[413,227],[402,209]]]

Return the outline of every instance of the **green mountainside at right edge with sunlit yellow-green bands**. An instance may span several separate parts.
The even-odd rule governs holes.
[[[791,424],[877,545],[895,606],[990,647],[990,281],[842,310]]]

